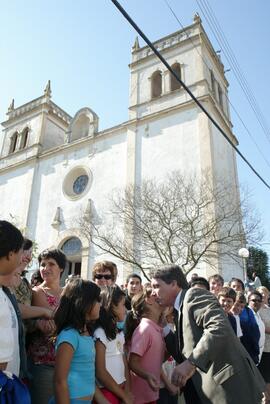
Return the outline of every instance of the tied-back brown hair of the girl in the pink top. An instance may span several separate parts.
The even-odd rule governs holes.
[[[147,313],[146,298],[150,297],[151,293],[150,288],[144,288],[142,292],[132,297],[131,311],[128,313],[125,323],[126,342],[131,341],[135,328],[138,327],[143,315]]]

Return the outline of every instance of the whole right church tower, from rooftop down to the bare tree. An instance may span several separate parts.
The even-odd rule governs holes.
[[[196,14],[190,26],[153,44],[237,145],[230,121],[229,83],[224,65],[208,39],[200,16]],[[197,178],[208,174],[209,185],[215,187],[226,181],[232,197],[238,201],[234,149],[153,51],[148,46],[140,47],[138,38],[132,47],[129,67],[132,123],[127,136],[129,182],[140,184],[141,178],[153,176],[166,178],[166,173],[173,170]],[[209,211],[212,217],[216,216],[216,209],[213,203]],[[213,267],[228,279],[239,269],[233,262],[226,263],[219,258],[213,260]],[[209,267],[204,270],[205,275],[211,274]]]

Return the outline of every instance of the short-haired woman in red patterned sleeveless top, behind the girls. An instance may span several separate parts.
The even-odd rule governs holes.
[[[58,249],[48,249],[38,256],[41,285],[35,287],[32,304],[55,310],[60,300],[62,288],[60,277],[66,266],[66,256]],[[30,359],[32,404],[48,404],[53,395],[53,374],[55,349],[52,335],[55,331],[53,320],[39,319],[28,347]]]

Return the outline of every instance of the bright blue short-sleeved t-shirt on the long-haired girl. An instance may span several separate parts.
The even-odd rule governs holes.
[[[91,396],[95,392],[95,345],[92,337],[81,335],[74,328],[60,332],[56,339],[56,350],[67,342],[74,349],[68,374],[70,398]]]

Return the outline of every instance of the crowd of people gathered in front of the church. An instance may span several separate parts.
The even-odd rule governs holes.
[[[29,390],[18,403],[270,402],[269,291],[256,275],[247,290],[219,274],[187,283],[168,265],[118,286],[101,261],[92,281],[62,287],[66,257],[50,248],[29,283],[32,247],[0,221],[0,376]]]

